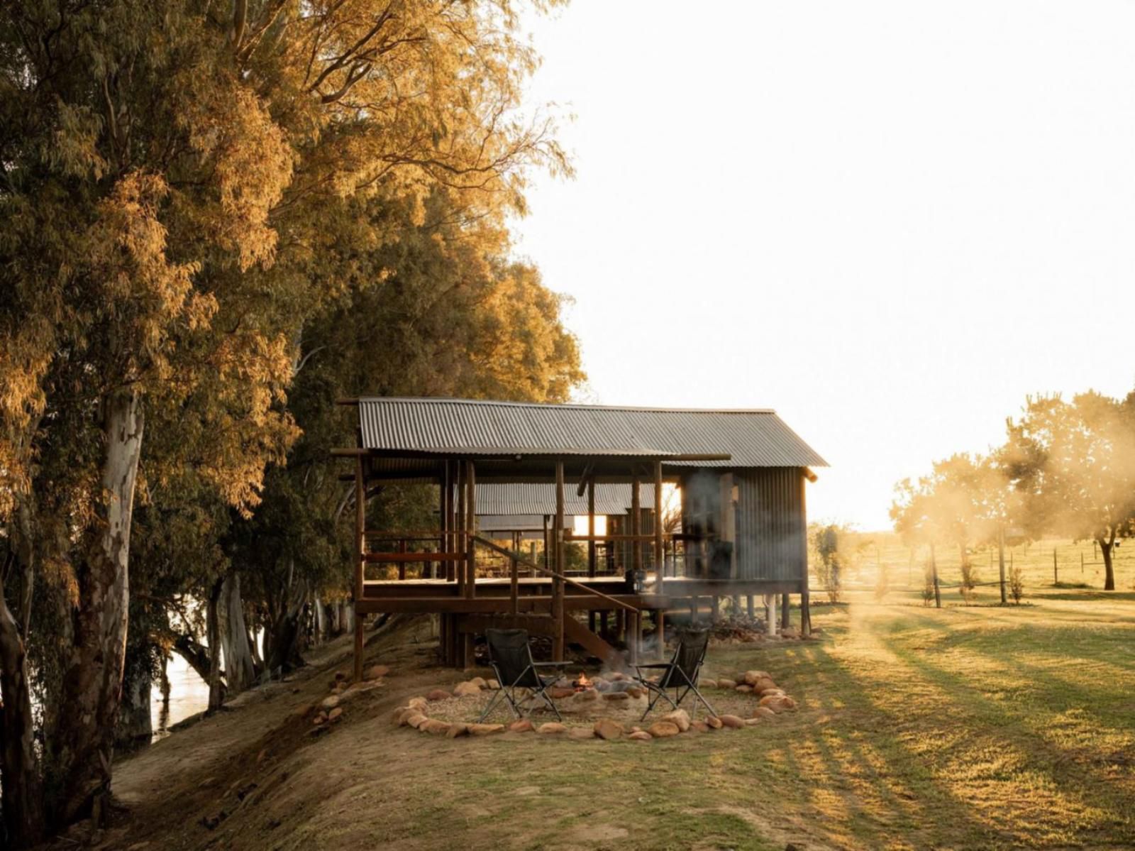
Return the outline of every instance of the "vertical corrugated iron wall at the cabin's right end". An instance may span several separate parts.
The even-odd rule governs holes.
[[[741,579],[802,579],[808,569],[804,474],[799,467],[740,469],[737,576]]]

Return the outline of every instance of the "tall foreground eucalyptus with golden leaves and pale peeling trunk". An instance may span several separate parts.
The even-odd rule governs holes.
[[[445,186],[499,219],[522,209],[524,166],[566,168],[550,124],[515,117],[536,61],[515,26],[508,0],[0,10],[0,519],[17,577],[0,653],[23,668],[0,678],[12,844],[44,818],[104,811],[135,494],[162,493],[161,465],[146,466],[155,425],[177,423],[195,477],[247,514],[299,434],[284,402],[304,324],[342,293],[321,258],[397,239],[396,218],[348,212],[329,232],[328,210],[368,198],[420,211]],[[32,678],[44,766],[25,723]]]

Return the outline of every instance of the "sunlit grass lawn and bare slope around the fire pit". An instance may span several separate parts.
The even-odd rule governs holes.
[[[262,796],[213,834],[178,814],[165,846],[1135,846],[1135,594],[1034,590],[1028,603],[934,610],[864,592],[816,607],[819,641],[723,646],[708,662],[707,676],[770,670],[798,712],[648,743],[394,728],[389,708],[454,681],[402,635],[377,648],[396,671],[386,693],[350,706],[330,735],[280,727],[226,752],[246,776],[224,784],[255,782]],[[233,723],[169,741],[219,741]],[[186,770],[185,784],[216,770]]]

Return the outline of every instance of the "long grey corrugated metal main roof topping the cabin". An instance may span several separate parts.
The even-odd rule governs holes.
[[[471,399],[359,400],[363,447],[411,452],[729,453],[688,467],[826,467],[772,410],[617,408]],[[462,450],[461,448],[465,448]]]

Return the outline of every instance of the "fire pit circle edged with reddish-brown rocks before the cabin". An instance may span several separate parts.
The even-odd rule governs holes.
[[[711,700],[715,704],[723,704],[716,717],[693,719],[686,709],[666,712],[659,707],[650,718],[640,721],[648,704],[647,690],[641,684],[623,674],[594,679],[578,675],[574,679],[558,681],[546,692],[555,701],[563,716],[562,721],[554,720],[550,712],[539,710],[536,706],[538,701],[530,696],[521,706],[535,710],[532,715],[540,712],[547,720],[540,717],[513,720],[503,701],[498,706],[505,723],[482,724],[470,720],[478,718],[484,711],[491,696],[487,692],[499,687],[495,679],[473,677],[452,689],[435,689],[423,696],[411,698],[406,706],[395,709],[390,721],[395,726],[412,727],[449,739],[536,732],[571,739],[629,739],[649,742],[688,732],[708,733],[713,729],[754,727],[797,708],[796,701],[776,686],[766,671],[749,670],[737,679],[723,677],[699,684],[703,690],[720,692],[724,689],[729,692],[724,700],[720,695]],[[494,716],[497,714],[494,710]]]

